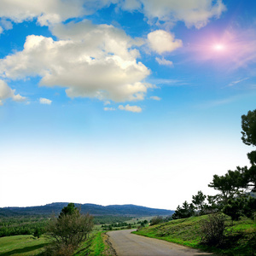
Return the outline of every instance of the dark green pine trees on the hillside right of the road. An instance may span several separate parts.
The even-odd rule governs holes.
[[[241,140],[248,146],[256,146],[256,109],[241,116]],[[223,176],[214,175],[208,186],[218,190],[214,196],[198,191],[192,196],[192,202],[184,201],[178,206],[172,218],[189,218],[212,212],[224,212],[232,220],[241,216],[255,218],[256,199],[256,150],[247,154],[251,166],[237,166]]]

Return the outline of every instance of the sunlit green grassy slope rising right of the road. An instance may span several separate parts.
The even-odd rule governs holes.
[[[164,224],[149,226],[134,232],[137,235],[172,241],[184,246],[225,255],[255,255],[256,224],[248,218],[234,221],[226,217],[225,239],[222,247],[208,247],[201,244],[200,225],[207,215],[182,218]]]

